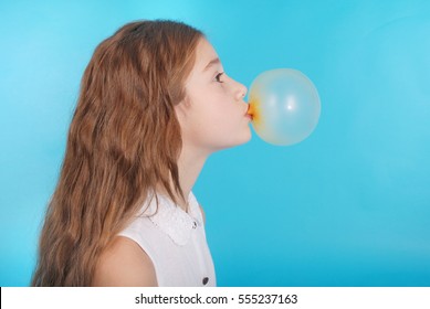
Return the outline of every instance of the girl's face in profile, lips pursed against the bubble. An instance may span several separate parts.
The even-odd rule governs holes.
[[[197,45],[186,94],[177,106],[186,147],[210,154],[250,140],[251,118],[243,100],[247,87],[224,73],[217,52],[204,39]]]

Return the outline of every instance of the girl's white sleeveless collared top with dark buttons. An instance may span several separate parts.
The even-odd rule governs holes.
[[[149,256],[160,287],[217,285],[203,217],[192,193],[188,205],[187,213],[167,196],[154,195],[118,234],[136,242]]]

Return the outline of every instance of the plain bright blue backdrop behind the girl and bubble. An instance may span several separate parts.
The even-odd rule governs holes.
[[[221,286],[430,286],[430,2],[1,1],[0,285],[27,286],[95,46],[137,19],[203,30],[250,85],[293,67],[314,134],[213,154],[195,193]]]

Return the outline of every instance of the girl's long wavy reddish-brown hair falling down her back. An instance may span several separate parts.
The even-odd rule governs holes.
[[[90,286],[103,249],[162,188],[181,196],[175,106],[203,34],[139,21],[95,50],[82,78],[60,179],[40,236],[32,286]]]

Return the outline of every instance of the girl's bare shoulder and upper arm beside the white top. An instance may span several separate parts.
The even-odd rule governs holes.
[[[157,286],[149,256],[134,241],[117,236],[102,253],[95,268],[93,286]]]

